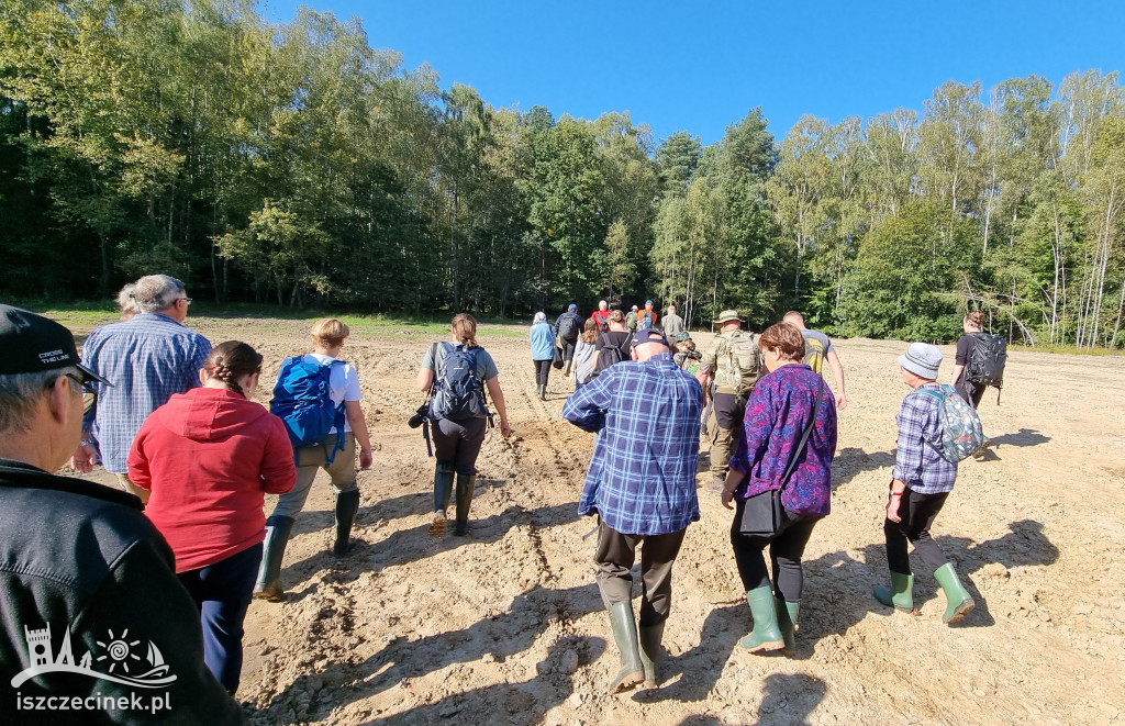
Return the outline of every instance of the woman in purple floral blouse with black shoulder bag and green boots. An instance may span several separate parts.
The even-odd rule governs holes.
[[[801,362],[804,338],[788,324],[771,326],[758,339],[763,363],[770,372],[762,376],[746,403],[742,436],[730,460],[730,473],[722,490],[722,503],[735,521],[730,543],[742,579],[746,600],[754,616],[754,630],[738,644],[758,653],[793,652],[793,633],[801,607],[801,555],[812,528],[828,515],[832,489],[831,463],[836,454],[836,399],[819,374]],[[795,451],[804,427],[812,419],[820,388],[824,399],[812,421],[804,451]],[[796,455],[788,482],[782,482],[790,459]],[[782,485],[784,483],[784,487]],[[781,489],[785,521],[781,532],[767,536],[739,530],[746,500],[763,491]],[[770,546],[773,583],[763,551]]]

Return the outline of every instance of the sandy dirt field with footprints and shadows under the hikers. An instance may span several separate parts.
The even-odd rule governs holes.
[[[191,325],[254,345],[270,381],[307,339],[304,323]],[[981,406],[996,446],[962,464],[934,527],[976,600],[948,627],[920,561],[921,617],[871,597],[886,579],[904,344],[837,342],[850,405],[832,512],[806,552],[795,657],[735,645],[750,618],[730,514],[701,490],[676,563],[664,683],[606,696],[618,652],[583,538],[594,523],[576,514],[592,437],[559,417],[569,384],[552,379],[537,400],[525,337],[497,330],[480,339],[515,436],[488,434],[468,538],[426,535],[433,460],[405,425],[432,337],[388,328],[349,341],[375,444],[357,544],[342,563],[327,554],[332,498],[318,479],[286,553],[289,600],[254,602],[248,617],[238,696],[256,723],[1125,723],[1125,360],[1011,355],[1001,405],[990,393]],[[943,351],[947,379],[953,347]]]

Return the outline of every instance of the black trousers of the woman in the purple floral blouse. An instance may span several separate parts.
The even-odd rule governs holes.
[[[742,589],[749,591],[770,584],[770,572],[762,554],[768,545],[774,595],[786,602],[799,602],[804,588],[801,557],[804,556],[804,545],[809,544],[812,528],[817,526],[819,518],[785,512],[781,532],[772,537],[764,537],[744,535],[738,530],[745,510],[746,500],[739,499],[735,506],[735,521],[730,526],[730,544],[735,548],[735,564],[738,565]]]

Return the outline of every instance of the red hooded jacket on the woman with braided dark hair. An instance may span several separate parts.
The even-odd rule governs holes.
[[[226,389],[173,396],[145,419],[129,481],[152,491],[145,515],[176,554],[176,571],[215,564],[266,538],[266,492],[292,489],[285,424]]]

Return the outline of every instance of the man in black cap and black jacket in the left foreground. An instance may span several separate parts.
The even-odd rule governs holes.
[[[82,434],[82,392],[109,382],[74,337],[0,305],[0,723],[237,724],[204,665],[199,614],[133,494],[51,472]],[[107,675],[109,678],[107,678]],[[39,705],[39,706],[37,706]]]

